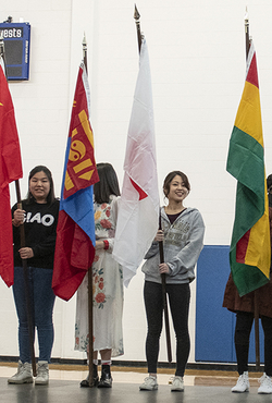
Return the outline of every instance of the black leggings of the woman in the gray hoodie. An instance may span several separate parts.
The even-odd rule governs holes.
[[[166,293],[176,337],[176,376],[183,377],[189,356],[188,313],[190,289],[189,284],[166,284]],[[145,282],[144,298],[147,315],[148,333],[146,339],[146,356],[148,373],[157,373],[162,330],[162,288],[151,281]]]

